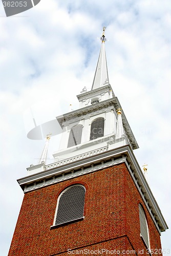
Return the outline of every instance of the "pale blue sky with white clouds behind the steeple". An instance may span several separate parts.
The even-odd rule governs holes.
[[[41,0],[6,17],[0,2],[1,255],[8,254],[24,197],[16,180],[27,176],[45,144],[27,137],[33,118],[39,125],[68,113],[70,104],[78,109],[76,95],[92,87],[103,26],[109,82],[171,227],[170,9],[169,0]],[[59,140],[60,134],[51,138],[47,163]],[[170,238],[170,229],[162,232],[162,248],[171,254]]]

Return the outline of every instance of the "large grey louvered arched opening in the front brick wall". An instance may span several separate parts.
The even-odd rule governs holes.
[[[86,189],[82,185],[66,188],[59,198],[55,225],[83,220]]]

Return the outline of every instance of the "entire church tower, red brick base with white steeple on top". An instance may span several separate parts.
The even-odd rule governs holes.
[[[46,164],[47,137],[38,164],[18,180],[25,195],[9,256],[162,254],[167,225],[109,83],[104,30],[91,91],[77,95],[78,110],[56,117],[54,162]]]

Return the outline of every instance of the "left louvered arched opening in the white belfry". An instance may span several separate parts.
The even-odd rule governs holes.
[[[81,143],[82,124],[77,124],[70,130],[68,147],[75,146]]]

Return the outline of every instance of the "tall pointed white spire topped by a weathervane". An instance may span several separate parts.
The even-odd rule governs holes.
[[[104,31],[105,31],[105,27],[103,27],[103,33],[100,38],[100,40],[102,41],[102,44],[101,44],[101,50],[100,50],[96,72],[93,80],[92,90],[102,87],[105,84],[109,84],[108,67],[107,67],[105,48],[104,48],[104,42],[106,41]]]

